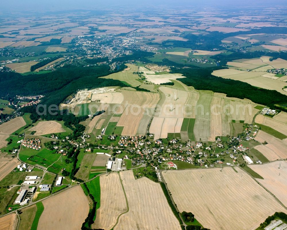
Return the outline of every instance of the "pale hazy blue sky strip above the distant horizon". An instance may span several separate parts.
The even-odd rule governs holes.
[[[202,6],[202,7],[234,7],[241,5],[265,6],[265,5],[282,5],[287,6],[286,0],[9,0],[1,1],[0,12],[23,12],[48,10],[57,11],[63,9],[99,9],[102,7],[114,9],[116,6],[137,6],[144,9],[145,6],[153,7],[156,5],[169,6]]]

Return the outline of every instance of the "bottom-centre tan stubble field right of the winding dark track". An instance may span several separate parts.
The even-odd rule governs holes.
[[[120,177],[129,211],[119,217],[119,222],[113,229],[181,229],[159,183],[146,177],[135,180],[132,171],[120,172]]]

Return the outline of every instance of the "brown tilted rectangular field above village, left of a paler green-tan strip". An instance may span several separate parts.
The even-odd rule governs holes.
[[[144,116],[145,109],[128,105],[121,115],[117,126],[124,126],[122,135],[135,136],[139,122]]]

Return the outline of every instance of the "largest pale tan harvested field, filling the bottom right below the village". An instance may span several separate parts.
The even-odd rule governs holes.
[[[286,211],[246,172],[235,169],[168,170],[163,177],[179,212],[192,212],[205,228],[255,229],[274,212]]]

